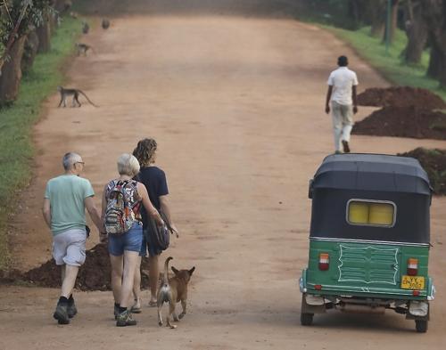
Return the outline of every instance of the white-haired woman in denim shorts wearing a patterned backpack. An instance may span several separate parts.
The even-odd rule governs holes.
[[[103,191],[103,223],[108,233],[111,261],[111,288],[114,297],[114,315],[118,327],[133,326],[136,320],[128,310],[132,293],[138,254],[143,241],[141,204],[157,224],[164,224],[153,207],[143,183],[133,180],[139,172],[139,163],[131,154],[118,159],[120,176],[105,185]]]

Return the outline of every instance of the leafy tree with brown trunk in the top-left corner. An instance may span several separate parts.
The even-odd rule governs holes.
[[[25,39],[51,12],[49,0],[4,0],[0,8],[0,105],[19,94]]]

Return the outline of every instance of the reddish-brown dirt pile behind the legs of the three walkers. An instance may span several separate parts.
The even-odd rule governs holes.
[[[76,289],[79,290],[111,290],[111,266],[107,246],[98,244],[87,250],[86,262],[79,268]],[[149,288],[148,262],[143,258],[141,266],[141,288]],[[38,287],[59,288],[61,286],[61,268],[54,260],[48,260],[27,273],[17,271],[0,273],[3,283],[27,282]]]

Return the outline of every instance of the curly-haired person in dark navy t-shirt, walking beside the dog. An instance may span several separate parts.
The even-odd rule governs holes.
[[[145,184],[147,191],[149,192],[149,198],[153,203],[153,206],[164,214],[164,219],[167,221],[171,232],[175,232],[178,237],[178,229],[175,224],[172,223],[170,217],[170,206],[168,199],[168,185],[166,175],[159,167],[155,167],[157,143],[153,139],[143,139],[136,145],[136,149],[133,151],[133,155],[138,159],[141,169],[137,175],[138,181]],[[143,237],[143,244],[139,254],[138,265],[136,267],[135,283],[133,293],[135,296],[135,305],[132,310],[134,313],[141,312],[141,300],[140,300],[140,284],[141,284],[141,257],[147,255],[149,251],[149,281],[151,298],[149,306],[156,305],[156,290],[158,288],[158,276],[160,274],[158,267],[158,256],[160,256],[163,248],[159,247],[154,239],[153,230],[149,223],[149,218],[145,215],[143,210],[143,230],[145,232]]]

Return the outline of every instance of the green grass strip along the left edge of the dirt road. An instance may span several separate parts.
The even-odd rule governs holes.
[[[52,39],[50,53],[37,55],[32,70],[21,81],[21,92],[11,107],[0,110],[0,269],[8,263],[7,219],[16,193],[29,183],[34,156],[31,128],[40,105],[62,85],[63,62],[73,53],[80,20],[63,18]],[[21,213],[28,215],[27,213]]]

